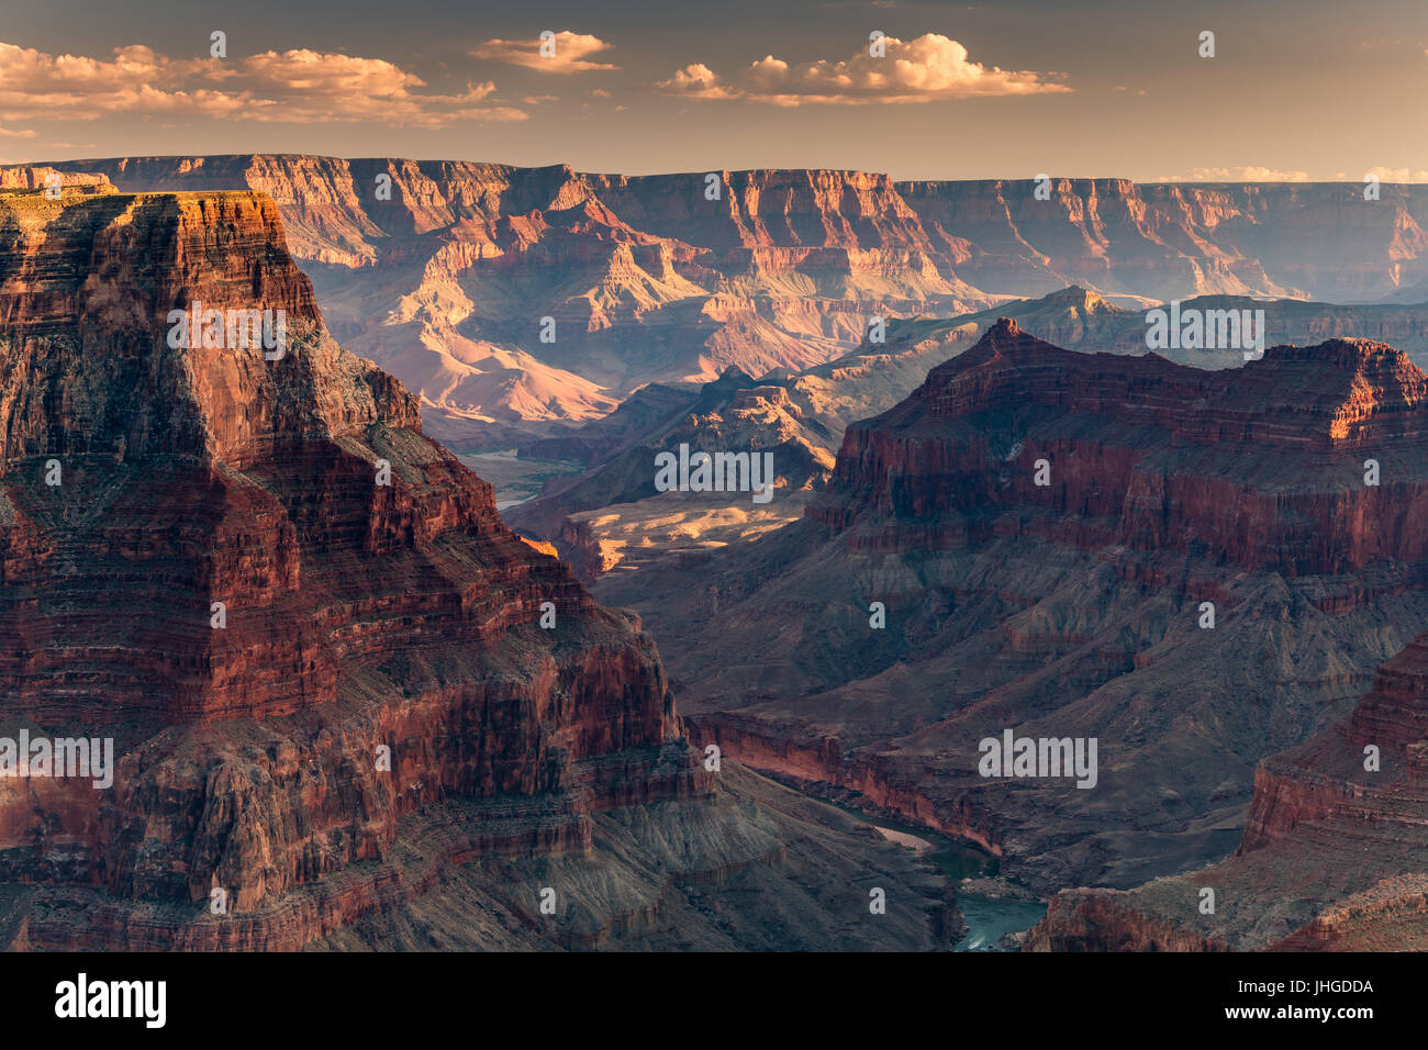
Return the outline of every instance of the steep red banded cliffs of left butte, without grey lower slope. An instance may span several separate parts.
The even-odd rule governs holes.
[[[371,887],[323,920],[284,894],[381,860],[434,800],[564,793],[503,833],[558,849],[591,807],[703,790],[678,747],[650,766],[680,731],[650,639],[331,341],[267,197],[0,211],[0,729],[119,743],[109,790],[0,786],[10,880],[110,901],[31,916],[30,946],[294,947]],[[284,310],[284,353],[169,346],[194,300]],[[213,887],[256,917],[194,927]],[[116,900],[170,911],[137,934]]]

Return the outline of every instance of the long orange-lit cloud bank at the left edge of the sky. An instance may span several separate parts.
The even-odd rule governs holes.
[[[456,121],[526,120],[491,106],[494,83],[456,94],[426,93],[423,80],[384,59],[330,51],[263,51],[244,59],[169,59],[144,46],[113,59],[46,54],[0,43],[0,120],[100,120],[208,116],[274,123],[376,121],[446,127]]]

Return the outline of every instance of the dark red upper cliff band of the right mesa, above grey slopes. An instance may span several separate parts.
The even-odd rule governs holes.
[[[932,520],[965,543],[1028,531],[1144,551],[1194,543],[1295,576],[1419,563],[1425,400],[1422,371],[1381,343],[1272,347],[1201,371],[1070,353],[1004,320],[900,406],[853,424],[808,516],[837,529],[863,514]],[[1064,433],[1075,419],[1100,433]],[[1147,456],[1144,437],[1181,463]],[[1374,456],[1387,484],[1364,484]]]

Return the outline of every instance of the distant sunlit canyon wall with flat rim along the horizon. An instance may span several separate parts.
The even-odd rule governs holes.
[[[416,390],[437,437],[484,447],[603,416],[648,381],[825,364],[874,316],[951,317],[1067,284],[1132,304],[1409,301],[1428,280],[1421,186],[1364,201],[1351,184],[1061,179],[1038,200],[1030,180],[763,170],[714,173],[710,200],[703,173],[564,166],[260,154],[56,167],[126,190],[268,193],[334,334]]]

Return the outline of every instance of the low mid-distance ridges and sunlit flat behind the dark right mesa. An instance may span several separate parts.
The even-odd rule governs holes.
[[[1417,364],[1428,364],[1428,313],[1419,307],[1339,307],[1201,296],[1185,300],[1182,309],[1212,316],[1211,311],[1251,306],[1264,310],[1267,340],[1312,344],[1361,333],[1404,350]],[[725,373],[721,380],[703,386],[650,384],[604,419],[560,437],[524,444],[521,456],[534,460],[568,457],[580,461],[584,477],[551,481],[537,499],[513,509],[508,520],[523,533],[554,543],[587,581],[617,566],[628,571],[653,559],[687,560],[697,557],[701,547],[754,539],[771,524],[787,524],[803,516],[808,497],[827,481],[833,457],[851,423],[895,406],[922,383],[930,369],[972,346],[998,316],[1027,330],[1047,333],[1048,341],[1065,349],[1148,353],[1144,311],[1117,307],[1080,287],[951,319],[892,320],[881,343],[864,340],[857,350],[828,364],[800,373],[780,370],[761,380],[731,380],[734,373]],[[1162,356],[1197,369],[1244,364],[1244,353],[1237,349],[1175,349]],[[761,386],[787,409],[757,417],[741,413],[744,426],[737,433],[708,426],[733,407],[728,391],[734,381]],[[784,419],[787,413],[798,423]],[[751,430],[750,423],[763,426]],[[727,447],[787,447],[784,443],[795,431],[801,431],[798,447],[791,450],[797,471],[780,491],[778,507],[765,509],[757,520],[745,520],[721,501],[694,506],[650,499],[647,460],[661,440],[674,440],[677,433],[684,437],[698,433]],[[817,459],[815,467],[808,464],[810,457]],[[787,459],[780,454],[780,461]]]

